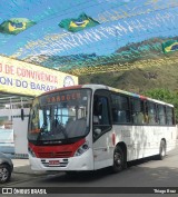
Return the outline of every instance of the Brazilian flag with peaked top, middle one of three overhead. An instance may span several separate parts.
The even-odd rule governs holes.
[[[59,23],[60,28],[65,28],[68,31],[77,32],[86,28],[91,28],[99,24],[98,21],[93,20],[86,13],[81,13],[78,19],[63,19]]]

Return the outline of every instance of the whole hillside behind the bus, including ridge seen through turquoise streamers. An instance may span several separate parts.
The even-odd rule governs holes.
[[[161,49],[161,43],[170,39],[178,37],[154,38],[119,48],[116,53],[123,58],[127,55],[125,60],[118,59],[113,66],[88,68],[88,75],[83,69],[79,82],[103,83],[138,93],[155,88],[178,91],[178,51],[164,53]]]

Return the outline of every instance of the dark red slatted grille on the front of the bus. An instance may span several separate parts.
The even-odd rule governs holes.
[[[72,157],[72,151],[38,152],[39,158],[68,158]]]

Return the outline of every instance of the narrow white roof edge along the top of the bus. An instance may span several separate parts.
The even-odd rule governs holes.
[[[80,89],[80,88],[90,88],[93,91],[97,90],[97,89],[106,89],[106,90],[119,92],[119,93],[122,93],[122,95],[127,95],[127,96],[130,96],[130,97],[134,97],[134,98],[140,98],[142,100],[149,100],[149,101],[152,101],[152,102],[157,102],[157,104],[161,104],[161,105],[167,105],[167,106],[174,107],[171,104],[167,104],[167,102],[164,102],[164,101],[160,101],[160,100],[151,99],[149,97],[145,97],[145,96],[141,96],[141,95],[138,95],[138,93],[125,91],[125,90],[112,88],[112,87],[105,86],[105,85],[95,85],[95,83],[77,85],[77,86],[58,88],[58,89],[55,89],[55,90],[51,90],[51,91],[47,91],[47,92],[44,92],[42,95],[53,93],[53,92],[58,92],[58,91],[62,91],[62,90]]]

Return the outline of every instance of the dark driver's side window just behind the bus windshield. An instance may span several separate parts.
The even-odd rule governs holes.
[[[108,98],[105,96],[95,96],[93,98],[93,138],[98,138],[108,131],[110,126]]]

